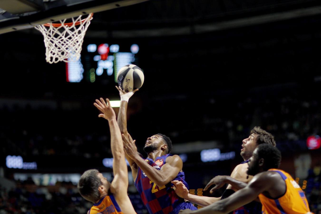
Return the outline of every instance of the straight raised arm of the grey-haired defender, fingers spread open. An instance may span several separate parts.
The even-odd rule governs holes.
[[[121,133],[116,121],[116,114],[112,107],[110,107],[109,99],[106,99],[107,104],[103,98],[96,99],[94,103],[102,114],[98,115],[108,120],[110,130],[110,147],[113,154],[113,172],[114,179],[111,183],[111,192],[118,195],[127,196],[128,187],[128,172],[125,161],[125,152]]]

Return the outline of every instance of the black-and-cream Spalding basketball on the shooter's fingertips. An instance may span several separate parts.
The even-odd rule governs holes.
[[[139,89],[144,83],[143,71],[134,64],[125,65],[117,73],[117,82],[126,92]]]

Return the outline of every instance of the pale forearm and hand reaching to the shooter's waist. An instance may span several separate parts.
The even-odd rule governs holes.
[[[175,186],[175,188],[174,188],[174,186],[172,186],[171,188],[173,188],[175,190],[175,193],[179,197],[184,198],[187,201],[191,201],[193,203],[201,205],[203,207],[208,206],[208,205],[221,199],[221,197],[215,198],[215,197],[192,195],[189,193],[188,189],[181,181],[174,180],[171,183],[174,184],[174,186]]]

